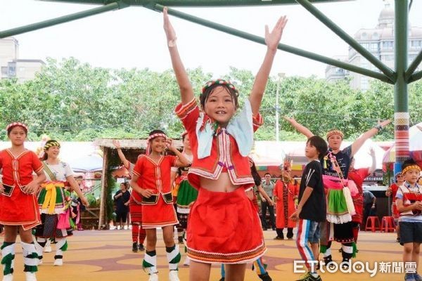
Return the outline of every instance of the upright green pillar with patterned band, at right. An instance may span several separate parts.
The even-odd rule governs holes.
[[[395,0],[395,166],[394,174],[401,171],[402,162],[409,157],[409,101],[407,81],[408,0]]]

